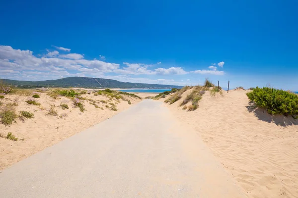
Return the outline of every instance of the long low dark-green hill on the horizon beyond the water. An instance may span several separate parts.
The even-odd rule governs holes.
[[[83,88],[181,88],[175,85],[158,85],[145,83],[125,83],[104,78],[87,78],[87,77],[68,77],[57,80],[46,81],[17,81],[9,79],[1,79],[3,83],[15,85],[20,88],[40,88],[40,87],[83,87]]]

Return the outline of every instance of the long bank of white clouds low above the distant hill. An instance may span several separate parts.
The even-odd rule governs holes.
[[[190,74],[224,75],[224,71],[218,71],[217,67],[210,66],[209,69],[185,71],[180,66],[168,68],[159,67],[161,62],[155,64],[112,63],[105,61],[105,56],[99,55],[101,60],[94,58],[88,60],[83,54],[68,53],[71,49],[53,46],[58,50],[49,50],[40,56],[33,55],[31,50],[13,49],[10,46],[0,46],[0,77],[15,80],[49,80],[70,76],[99,77],[111,79],[127,79],[136,82],[146,77],[150,78],[144,82],[181,84],[174,79],[164,79],[158,76],[188,76]],[[164,65],[164,64],[162,64]],[[214,65],[214,64],[212,64]],[[218,63],[223,67],[224,62]],[[135,76],[142,76],[136,78]],[[175,77],[176,78],[176,77]],[[127,81],[127,82],[129,82]],[[185,78],[185,82],[186,78]],[[164,84],[163,83],[163,84]]]

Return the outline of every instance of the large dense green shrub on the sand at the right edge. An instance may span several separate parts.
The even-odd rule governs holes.
[[[246,94],[256,106],[266,109],[269,114],[297,115],[298,95],[274,88],[258,88]]]

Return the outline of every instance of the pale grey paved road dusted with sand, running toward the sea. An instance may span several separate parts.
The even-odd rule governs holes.
[[[144,100],[0,173],[1,198],[242,198],[197,134]]]

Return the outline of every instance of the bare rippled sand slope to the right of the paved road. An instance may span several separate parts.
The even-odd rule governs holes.
[[[199,108],[187,112],[178,106],[188,90],[167,106],[197,131],[249,197],[298,198],[298,121],[278,116],[275,123],[266,112],[249,112],[247,92],[207,92]]]

